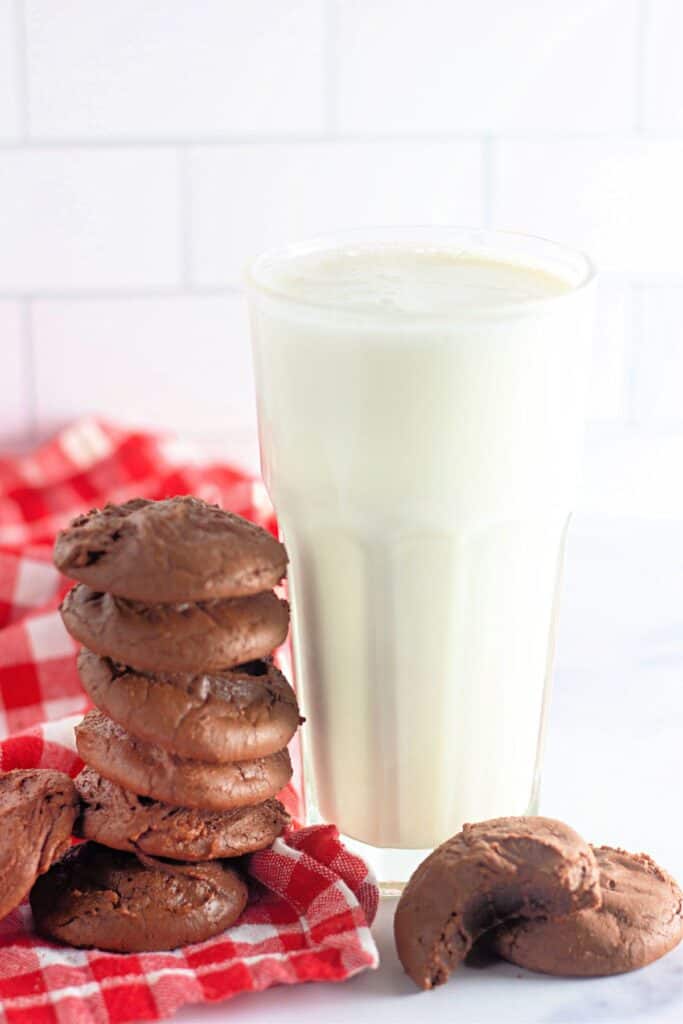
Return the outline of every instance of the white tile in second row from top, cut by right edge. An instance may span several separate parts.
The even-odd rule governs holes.
[[[683,141],[507,139],[497,148],[498,227],[580,246],[605,270],[683,270]]]

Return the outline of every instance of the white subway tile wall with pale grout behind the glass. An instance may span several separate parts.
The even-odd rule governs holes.
[[[245,261],[409,221],[589,249],[592,419],[683,435],[682,51],[683,0],[0,0],[0,447],[253,433]]]

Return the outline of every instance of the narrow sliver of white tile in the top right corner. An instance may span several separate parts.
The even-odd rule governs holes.
[[[683,3],[649,0],[643,69],[643,128],[683,133]]]

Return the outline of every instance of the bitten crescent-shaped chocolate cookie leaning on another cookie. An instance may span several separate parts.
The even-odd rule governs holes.
[[[420,864],[398,901],[396,949],[416,985],[449,978],[473,943],[510,918],[562,916],[600,902],[591,848],[551,818],[467,824]]]

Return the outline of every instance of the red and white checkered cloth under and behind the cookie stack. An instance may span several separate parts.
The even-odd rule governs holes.
[[[0,770],[76,775],[82,765],[73,727],[88,701],[76,672],[77,644],[56,610],[71,586],[52,565],[56,530],[105,501],[178,494],[274,528],[260,483],[191,461],[186,452],[181,457],[159,436],[88,420],[28,457],[0,459]],[[299,782],[295,770],[281,795],[295,817]],[[290,830],[249,858],[248,869],[251,897],[240,923],[173,952],[120,955],[46,942],[33,934],[23,904],[0,922],[0,1024],[160,1020],[187,1002],[343,981],[377,967],[369,926],[378,888],[333,825]]]

